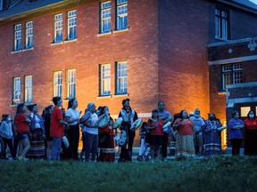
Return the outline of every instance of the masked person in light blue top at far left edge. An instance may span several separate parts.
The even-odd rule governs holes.
[[[4,140],[4,147],[10,149],[12,159],[15,160],[15,153],[13,148],[13,132],[12,132],[12,117],[9,114],[4,114],[4,120],[2,121],[2,124],[0,125],[0,135],[2,139]],[[4,150],[3,154],[4,160],[8,160],[6,157],[6,150]]]

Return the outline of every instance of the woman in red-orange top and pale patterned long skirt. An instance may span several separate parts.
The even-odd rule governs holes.
[[[195,156],[194,125],[187,116],[187,111],[182,110],[176,119],[173,128],[178,131],[175,156],[177,160]]]

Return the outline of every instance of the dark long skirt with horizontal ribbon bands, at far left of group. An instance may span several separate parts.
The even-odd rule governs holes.
[[[45,141],[42,137],[42,129],[37,129],[29,138],[30,148],[26,154],[29,159],[44,159],[45,157]]]

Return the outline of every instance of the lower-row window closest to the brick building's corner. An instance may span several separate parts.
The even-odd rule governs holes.
[[[117,62],[116,64],[116,94],[128,93],[128,63]]]

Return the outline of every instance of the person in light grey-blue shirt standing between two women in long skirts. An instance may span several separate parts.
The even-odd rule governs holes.
[[[190,121],[192,121],[194,125],[195,132],[195,154],[197,156],[202,156],[203,153],[203,127],[205,125],[203,118],[200,116],[199,108],[195,109],[194,116],[189,117]]]

